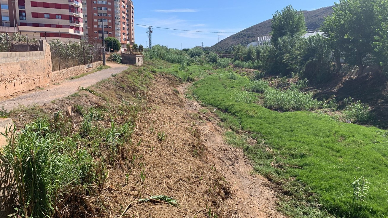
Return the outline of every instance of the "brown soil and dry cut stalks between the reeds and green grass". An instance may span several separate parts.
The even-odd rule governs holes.
[[[190,84],[178,84],[172,76],[154,75],[145,91],[132,91],[130,84],[126,88],[118,85],[128,82],[127,77],[124,72],[91,88],[116,101],[141,96],[142,100],[133,101],[133,105],[140,105],[142,109],[130,118],[134,129],[131,140],[124,145],[128,148],[127,158],[123,163],[107,166],[102,192],[97,196],[80,196],[82,206],[75,203],[74,210],[85,213],[86,217],[103,218],[120,217],[127,206],[123,218],[285,218],[275,209],[277,194],[271,191],[272,184],[253,173],[241,149],[223,142],[223,129],[217,126],[217,117],[211,112],[200,113],[203,107],[183,97]],[[62,98],[40,108],[51,116],[58,110],[66,111],[69,106],[86,108],[92,103],[107,105],[104,98],[81,91],[80,96]],[[30,113],[11,114],[16,127],[23,128],[38,116]],[[199,116],[193,117],[193,113]],[[116,123],[123,124],[128,122],[125,116],[128,115],[112,117]],[[72,113],[69,117],[73,130],[77,130],[81,116]],[[213,122],[207,121],[211,120],[209,117],[213,117]],[[100,122],[109,128],[111,118]],[[165,137],[161,139],[162,134]],[[163,202],[133,203],[155,195],[173,197],[180,206],[176,208]]]

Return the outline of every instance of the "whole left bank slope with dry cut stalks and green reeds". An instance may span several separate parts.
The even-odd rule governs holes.
[[[150,69],[7,114],[16,130],[1,153],[0,214],[238,217],[176,79]]]

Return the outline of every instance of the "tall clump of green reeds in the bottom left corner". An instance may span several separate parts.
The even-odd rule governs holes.
[[[52,217],[66,206],[63,199],[94,189],[99,163],[53,132],[48,120],[38,118],[11,136],[1,156],[14,173],[21,217]]]

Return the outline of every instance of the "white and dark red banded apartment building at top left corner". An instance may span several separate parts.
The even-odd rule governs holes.
[[[62,41],[76,41],[83,36],[81,0],[0,0],[0,3],[0,26],[14,27],[8,28],[12,32]]]

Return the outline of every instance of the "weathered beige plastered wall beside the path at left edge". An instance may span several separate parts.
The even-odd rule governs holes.
[[[43,51],[0,53],[0,96],[34,89],[50,82],[50,46]]]

